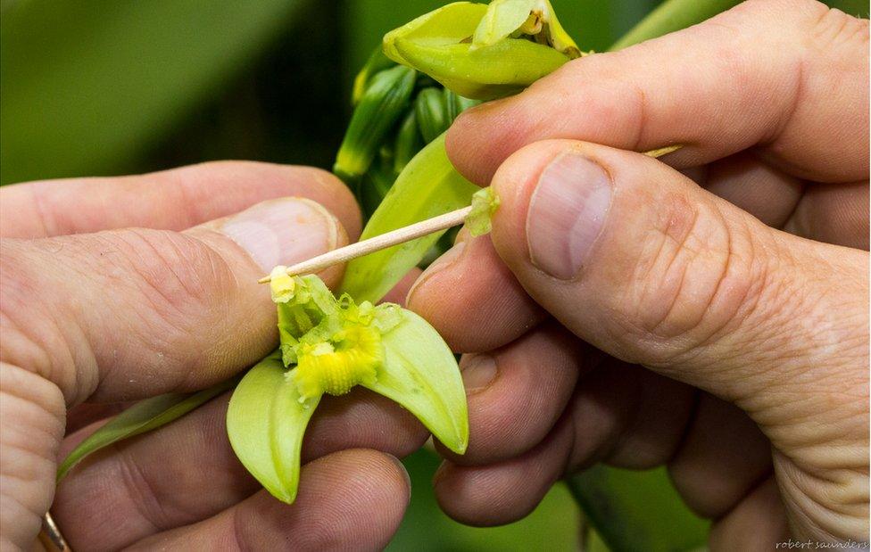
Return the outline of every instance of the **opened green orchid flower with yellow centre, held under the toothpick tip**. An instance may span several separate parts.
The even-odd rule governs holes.
[[[280,350],[236,387],[227,431],[236,456],[276,498],[292,503],[303,433],[324,393],[362,385],[396,401],[457,454],[469,442],[460,369],[427,321],[393,303],[339,299],[317,276],[271,274]]]

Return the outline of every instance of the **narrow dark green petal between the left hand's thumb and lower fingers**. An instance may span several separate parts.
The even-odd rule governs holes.
[[[60,482],[75,465],[97,450],[169,424],[214,399],[220,393],[231,389],[238,381],[239,378],[236,377],[195,393],[167,393],[151,399],[140,400],[112,418],[109,423],[96,430],[85,441],[81,441],[79,446],[73,449],[58,467],[57,481]]]

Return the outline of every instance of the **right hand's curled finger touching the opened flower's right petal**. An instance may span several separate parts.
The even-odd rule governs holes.
[[[455,464],[492,464],[542,441],[585,369],[580,343],[559,325],[544,325],[501,350],[460,361],[469,404],[469,448],[440,453]]]

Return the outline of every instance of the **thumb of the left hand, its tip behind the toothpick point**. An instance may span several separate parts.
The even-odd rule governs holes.
[[[4,360],[56,383],[71,405],[217,383],[276,346],[275,309],[257,279],[343,243],[336,218],[304,199],[184,233],[4,239]]]

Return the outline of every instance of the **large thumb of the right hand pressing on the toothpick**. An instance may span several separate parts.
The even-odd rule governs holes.
[[[830,407],[843,382],[867,377],[864,251],[766,227],[659,161],[600,145],[531,144],[493,185],[502,260],[601,350],[763,425],[794,419],[797,398],[842,416]]]

